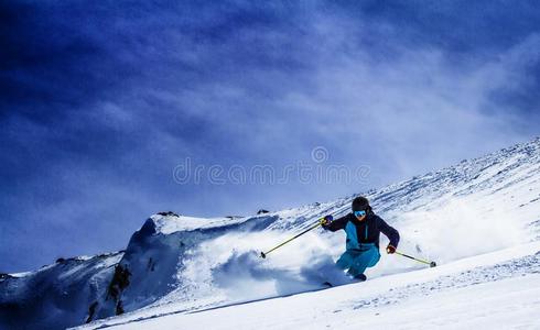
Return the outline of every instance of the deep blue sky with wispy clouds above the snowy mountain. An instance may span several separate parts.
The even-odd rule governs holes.
[[[540,133],[534,1],[3,1],[0,272],[126,246],[151,213],[331,200]],[[193,165],[363,180],[179,184]]]

